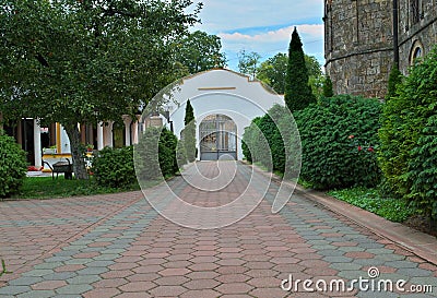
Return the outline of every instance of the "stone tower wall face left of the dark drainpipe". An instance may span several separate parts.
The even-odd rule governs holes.
[[[392,60],[391,1],[328,0],[324,24],[334,93],[383,96]]]

